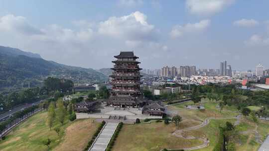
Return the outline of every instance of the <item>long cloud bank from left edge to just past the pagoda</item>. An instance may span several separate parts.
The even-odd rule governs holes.
[[[0,16],[1,45],[38,53],[46,60],[86,68],[111,67],[111,56],[129,50],[135,51],[137,56],[146,56],[149,64],[154,56],[163,56],[168,50],[160,43],[160,32],[139,11],[109,17],[99,23],[86,20],[71,23],[73,28],[58,24],[35,28],[23,16]],[[140,59],[145,59],[143,56]],[[106,59],[100,61],[102,57]]]

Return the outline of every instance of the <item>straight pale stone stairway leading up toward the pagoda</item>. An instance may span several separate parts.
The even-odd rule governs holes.
[[[88,151],[105,151],[119,123],[107,122]]]

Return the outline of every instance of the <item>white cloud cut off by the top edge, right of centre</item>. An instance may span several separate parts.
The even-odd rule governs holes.
[[[186,8],[192,14],[213,15],[235,0],[186,0]]]

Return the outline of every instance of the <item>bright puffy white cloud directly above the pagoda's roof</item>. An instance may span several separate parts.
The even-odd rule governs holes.
[[[148,24],[146,15],[136,11],[127,16],[110,17],[101,22],[98,32],[115,38],[126,40],[154,40],[154,25]]]

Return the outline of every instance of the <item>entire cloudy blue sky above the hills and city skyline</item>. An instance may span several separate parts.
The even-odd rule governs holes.
[[[0,0],[0,45],[46,60],[110,68],[120,51],[141,67],[269,68],[269,0]]]

